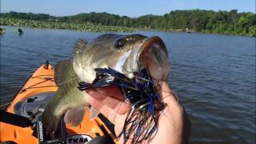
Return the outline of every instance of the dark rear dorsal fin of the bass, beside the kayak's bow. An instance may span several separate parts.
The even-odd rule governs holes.
[[[66,72],[66,69],[70,66],[71,60],[64,60],[57,63],[54,69],[54,81],[57,85],[61,84],[62,82],[65,82],[65,76],[64,73]]]

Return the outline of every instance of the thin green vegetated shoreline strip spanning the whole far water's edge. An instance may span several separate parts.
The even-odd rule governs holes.
[[[82,32],[96,32],[96,33],[134,33],[138,31],[158,31],[166,33],[186,33],[186,34],[219,34],[219,35],[230,35],[230,36],[242,36],[256,38],[255,35],[249,34],[221,34],[214,33],[207,30],[196,31],[189,30],[188,32],[183,29],[170,29],[170,30],[158,30],[150,28],[136,28],[127,26],[101,26],[94,24],[81,24],[81,23],[68,23],[68,22],[54,22],[54,21],[35,21],[17,18],[0,18],[0,26],[24,26],[38,29],[53,29],[53,30],[77,30]]]

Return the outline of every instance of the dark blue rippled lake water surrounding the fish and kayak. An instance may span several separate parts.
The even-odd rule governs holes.
[[[70,58],[78,38],[101,33],[3,26],[0,102],[48,59]],[[255,143],[255,38],[217,34],[140,32],[158,35],[170,54],[169,83],[191,120],[191,143]]]

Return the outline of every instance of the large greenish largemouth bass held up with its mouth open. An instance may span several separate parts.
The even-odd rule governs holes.
[[[72,58],[55,66],[55,82],[58,85],[52,102],[42,114],[46,134],[54,135],[58,122],[65,114],[66,123],[78,126],[82,122],[88,102],[88,94],[78,90],[78,82],[93,82],[95,68],[110,67],[134,77],[139,65],[150,71],[155,80],[166,80],[169,69],[168,52],[159,37],[147,38],[141,34],[102,34],[92,42],[80,39],[74,46]],[[90,118],[99,111],[90,106]]]

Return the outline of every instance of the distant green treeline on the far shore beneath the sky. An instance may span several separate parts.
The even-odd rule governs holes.
[[[256,14],[238,13],[238,10],[220,10],[218,12],[213,10],[175,10],[162,16],[149,14],[138,18],[94,12],[55,17],[50,14],[17,13],[11,11],[0,14],[0,17],[86,23],[100,26],[127,26],[144,30],[180,31],[187,28],[191,31],[206,33],[256,35]]]

